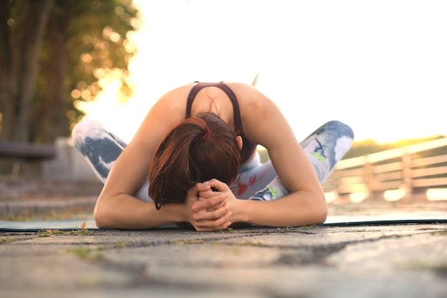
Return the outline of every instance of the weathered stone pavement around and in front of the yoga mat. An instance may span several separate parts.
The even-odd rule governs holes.
[[[91,219],[94,197],[0,203],[2,220]],[[346,218],[430,212],[447,202],[329,206]],[[0,296],[444,298],[447,224],[0,232]]]

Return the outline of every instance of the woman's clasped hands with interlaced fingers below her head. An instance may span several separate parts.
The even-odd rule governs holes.
[[[233,200],[236,197],[224,182],[211,179],[198,183],[186,195],[188,222],[200,232],[226,229],[231,225]]]

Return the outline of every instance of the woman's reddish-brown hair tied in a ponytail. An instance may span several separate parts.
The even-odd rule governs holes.
[[[186,200],[197,182],[216,178],[231,184],[237,177],[241,152],[236,133],[213,113],[185,119],[164,136],[149,167],[149,197],[156,209]]]

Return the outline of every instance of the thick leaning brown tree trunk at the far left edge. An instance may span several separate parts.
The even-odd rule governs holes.
[[[4,141],[29,141],[31,106],[39,73],[39,51],[54,0],[21,1],[4,47],[9,64],[0,69]]]

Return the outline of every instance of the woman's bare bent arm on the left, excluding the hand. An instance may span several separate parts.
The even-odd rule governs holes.
[[[153,203],[136,199],[134,194],[148,179],[152,154],[172,126],[176,125],[175,106],[162,97],[141,123],[134,139],[114,163],[94,210],[98,227],[147,229],[184,220],[184,210],[171,206],[159,211]]]

